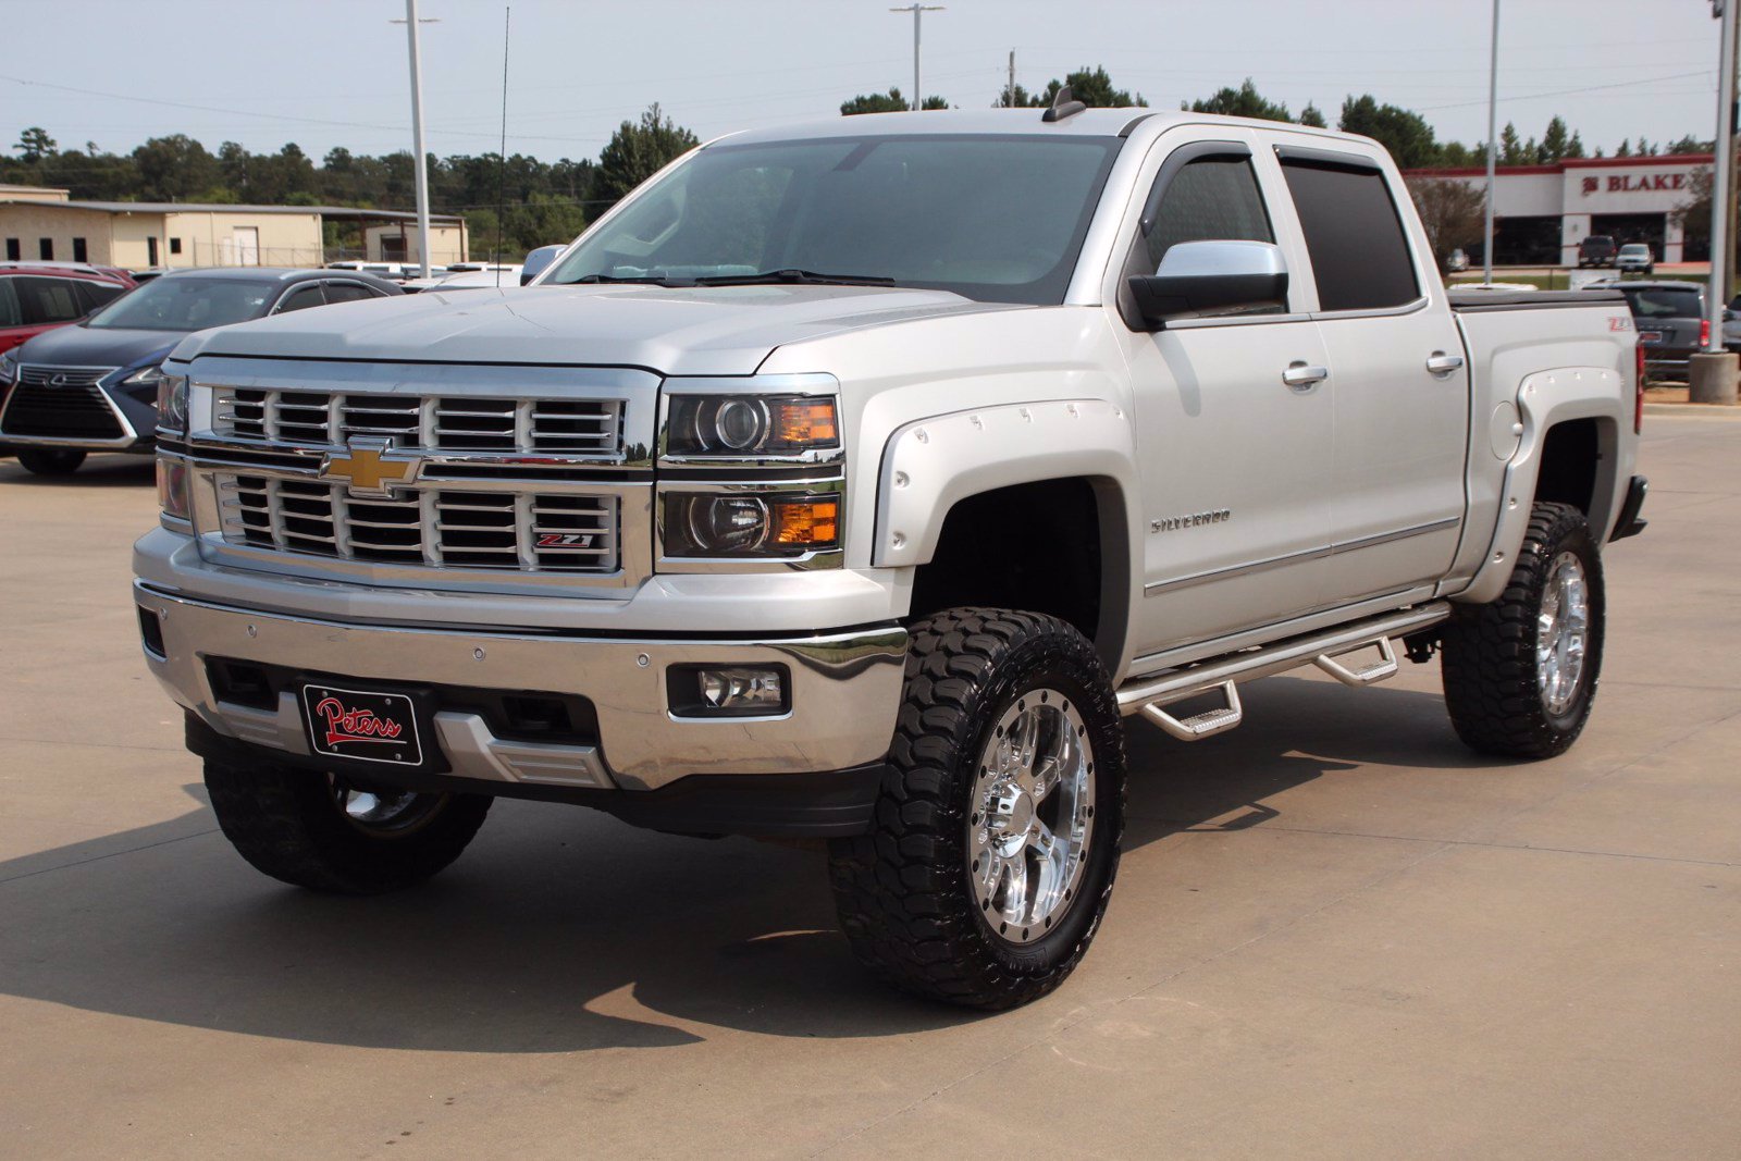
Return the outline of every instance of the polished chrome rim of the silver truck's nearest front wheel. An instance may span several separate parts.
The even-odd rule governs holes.
[[[1093,837],[1093,747],[1057,689],[1015,701],[978,757],[968,813],[968,879],[991,929],[1039,938],[1076,902]]]

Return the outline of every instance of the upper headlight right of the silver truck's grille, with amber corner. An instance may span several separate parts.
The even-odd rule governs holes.
[[[841,446],[834,399],[672,395],[667,456],[794,456]]]

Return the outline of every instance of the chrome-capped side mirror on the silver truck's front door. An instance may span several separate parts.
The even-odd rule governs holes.
[[[1287,310],[1288,268],[1269,242],[1177,242],[1128,285],[1144,325],[1160,331],[1170,319]]]

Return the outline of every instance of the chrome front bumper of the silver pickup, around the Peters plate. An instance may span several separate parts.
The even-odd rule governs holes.
[[[900,703],[907,632],[778,639],[639,639],[552,632],[416,628],[261,613],[136,581],[158,618],[162,653],[145,649],[176,701],[216,733],[308,754],[294,696],[277,710],[223,701],[207,658],[291,667],[359,684],[428,684],[585,696],[597,745],[548,745],[491,735],[482,717],[435,715],[453,778],[597,790],[658,790],[695,775],[803,775],[879,762]],[[790,710],[778,717],[677,717],[670,665],[783,665]]]

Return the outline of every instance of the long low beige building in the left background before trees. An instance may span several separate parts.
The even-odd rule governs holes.
[[[387,252],[388,238],[409,235],[411,249],[416,249],[416,216],[395,211],[73,202],[64,190],[0,186],[0,245],[7,261],[75,261],[129,270],[320,266],[326,263],[322,226],[327,219],[357,221],[371,261],[399,261]],[[442,265],[465,261],[465,219],[432,216],[430,252],[432,261]]]

